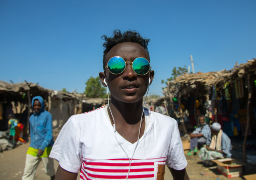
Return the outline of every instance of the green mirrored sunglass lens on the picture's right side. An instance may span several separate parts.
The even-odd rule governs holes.
[[[145,75],[149,72],[150,64],[145,58],[136,58],[133,63],[134,72],[139,75]]]

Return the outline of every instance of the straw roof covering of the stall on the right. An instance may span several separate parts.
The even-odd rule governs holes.
[[[256,74],[256,59],[247,60],[247,63],[235,65],[233,69],[226,71],[208,72],[197,74],[183,74],[176,77],[173,81],[168,82],[170,92],[178,92],[183,87],[183,94],[195,89],[196,87],[206,88],[212,87],[216,84],[224,85],[225,82],[233,83],[235,79],[244,77],[247,74]],[[186,88],[186,89],[185,89]],[[164,89],[164,94],[167,95],[167,87]]]

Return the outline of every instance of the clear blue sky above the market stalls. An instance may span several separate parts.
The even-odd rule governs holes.
[[[0,1],[0,80],[82,93],[102,68],[104,41],[114,29],[137,30],[161,90],[173,67],[229,70],[256,58],[256,1]]]

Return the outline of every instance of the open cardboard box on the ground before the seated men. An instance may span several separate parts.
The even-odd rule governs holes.
[[[242,176],[242,165],[235,164],[231,158],[214,159],[212,160],[217,164],[217,170],[226,177],[239,177]]]

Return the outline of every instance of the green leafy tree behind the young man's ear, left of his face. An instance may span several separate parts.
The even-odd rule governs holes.
[[[96,98],[106,96],[106,88],[102,87],[99,76],[96,78],[91,76],[85,84],[85,94],[87,97]]]

